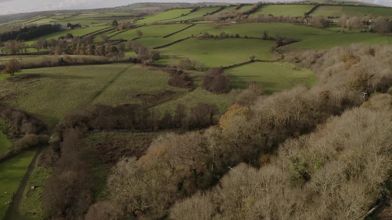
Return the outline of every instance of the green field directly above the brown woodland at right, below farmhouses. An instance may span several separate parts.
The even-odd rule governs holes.
[[[387,37],[376,33],[333,33],[318,36],[304,41],[290,44],[290,47],[303,47],[308,49],[329,49],[335,46],[347,46],[352,43],[388,44]]]

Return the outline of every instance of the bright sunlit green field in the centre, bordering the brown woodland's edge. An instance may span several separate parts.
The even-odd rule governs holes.
[[[265,93],[271,94],[297,85],[312,86],[314,73],[308,69],[294,70],[292,63],[254,62],[225,70],[231,76],[234,88],[246,88],[247,83],[258,83]]]

